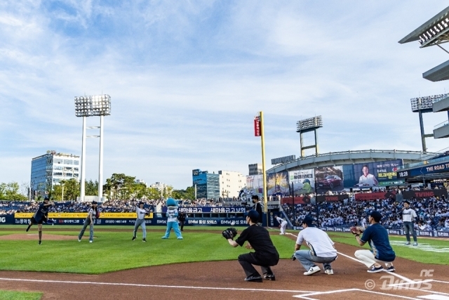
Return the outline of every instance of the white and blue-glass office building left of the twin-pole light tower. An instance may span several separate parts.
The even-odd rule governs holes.
[[[45,197],[53,189],[53,185],[62,180],[75,178],[79,181],[79,156],[56,153],[48,150],[46,154],[34,157],[31,161],[32,199]]]

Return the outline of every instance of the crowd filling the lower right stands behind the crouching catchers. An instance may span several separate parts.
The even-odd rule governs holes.
[[[442,197],[429,197],[410,200],[419,222],[415,223],[421,230],[449,230],[449,201]],[[373,201],[347,200],[339,202],[321,202],[316,204],[283,204],[283,210],[292,223],[299,226],[307,214],[318,220],[322,227],[366,225],[368,211],[378,210],[382,213],[382,225],[387,228],[402,228],[403,205],[391,198]]]

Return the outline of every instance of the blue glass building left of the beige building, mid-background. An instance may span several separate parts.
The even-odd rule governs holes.
[[[218,200],[220,195],[220,175],[210,174],[200,169],[192,170],[193,186],[196,186],[196,198]]]

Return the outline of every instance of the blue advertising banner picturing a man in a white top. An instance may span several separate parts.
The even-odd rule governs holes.
[[[385,185],[386,181],[396,182],[396,171],[402,166],[402,159],[366,164],[345,164],[343,166],[345,188],[369,188]]]

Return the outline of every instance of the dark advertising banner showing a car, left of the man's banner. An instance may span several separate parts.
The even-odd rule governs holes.
[[[316,192],[324,194],[328,191],[343,190],[343,167],[319,167],[315,169]]]

